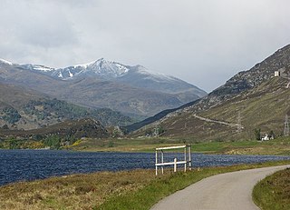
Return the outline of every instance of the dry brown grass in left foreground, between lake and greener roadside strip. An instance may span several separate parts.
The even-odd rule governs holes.
[[[53,177],[0,187],[0,209],[92,209],[111,195],[136,191],[155,178],[152,170]]]

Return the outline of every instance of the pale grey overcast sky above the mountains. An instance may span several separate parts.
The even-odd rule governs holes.
[[[290,44],[289,0],[0,0],[0,58],[99,58],[210,92]]]

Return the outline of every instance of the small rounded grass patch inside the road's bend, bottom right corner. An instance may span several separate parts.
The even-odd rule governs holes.
[[[254,187],[253,198],[263,210],[290,209],[290,169],[276,172],[260,181]]]

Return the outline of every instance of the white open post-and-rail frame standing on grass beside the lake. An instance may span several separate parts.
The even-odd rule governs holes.
[[[177,158],[174,158],[173,162],[164,163],[164,150],[172,150],[172,149],[184,149],[184,160],[178,161]],[[161,152],[161,162],[159,163],[159,152]],[[174,172],[177,171],[178,165],[184,165],[184,172],[187,171],[189,166],[189,170],[191,170],[191,145],[177,145],[177,146],[169,146],[169,147],[160,147],[156,148],[155,151],[155,170],[156,175],[158,175],[158,167],[161,167],[162,175],[164,173],[164,165],[174,165]]]

